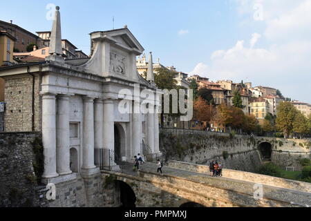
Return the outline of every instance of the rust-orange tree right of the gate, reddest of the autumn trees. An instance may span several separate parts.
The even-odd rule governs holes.
[[[214,107],[207,104],[205,99],[198,97],[194,102],[194,117],[201,122],[209,122],[214,113]]]

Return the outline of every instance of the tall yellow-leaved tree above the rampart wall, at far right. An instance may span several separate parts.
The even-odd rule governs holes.
[[[297,110],[290,102],[282,102],[277,108],[276,128],[282,131],[286,138],[290,136],[294,128],[294,119]]]

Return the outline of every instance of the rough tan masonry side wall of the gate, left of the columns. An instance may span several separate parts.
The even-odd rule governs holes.
[[[35,131],[41,131],[41,77],[35,75]],[[6,78],[6,132],[32,131],[32,76]]]

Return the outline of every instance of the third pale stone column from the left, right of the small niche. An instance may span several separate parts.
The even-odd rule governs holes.
[[[95,169],[94,164],[94,98],[83,97],[83,164],[82,169]]]

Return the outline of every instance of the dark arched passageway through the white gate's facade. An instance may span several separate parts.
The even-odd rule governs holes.
[[[126,130],[122,124],[116,123],[115,128],[115,160],[122,161],[126,157]]]

